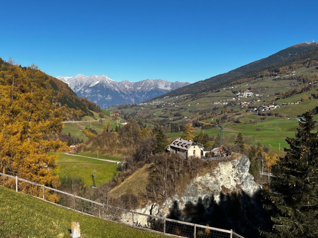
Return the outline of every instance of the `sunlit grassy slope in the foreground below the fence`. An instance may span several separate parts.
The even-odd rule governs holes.
[[[0,237],[69,238],[71,221],[79,221],[82,238],[167,237],[59,208],[0,186]]]

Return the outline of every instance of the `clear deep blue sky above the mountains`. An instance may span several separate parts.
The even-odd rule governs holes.
[[[318,41],[317,1],[3,1],[0,57],[52,76],[190,83]]]

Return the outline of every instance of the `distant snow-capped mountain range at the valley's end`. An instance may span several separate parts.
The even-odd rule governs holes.
[[[146,79],[139,82],[124,80],[116,82],[106,75],[57,77],[67,83],[79,97],[86,97],[102,108],[113,105],[140,103],[160,96],[190,83]]]

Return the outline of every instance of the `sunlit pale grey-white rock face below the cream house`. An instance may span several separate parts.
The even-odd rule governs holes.
[[[183,210],[187,202],[197,203],[199,199],[214,197],[216,203],[219,202],[221,193],[244,192],[252,196],[261,186],[254,182],[254,177],[248,173],[250,161],[245,155],[233,154],[232,160],[219,162],[216,169],[203,176],[195,178],[189,184],[183,195],[175,195],[168,198],[162,205],[149,203],[136,212],[152,214],[165,217],[169,214],[169,209],[177,202],[179,209]],[[131,222],[131,214],[124,214],[123,221]],[[147,226],[147,219],[142,215],[135,215],[134,221],[142,226]]]

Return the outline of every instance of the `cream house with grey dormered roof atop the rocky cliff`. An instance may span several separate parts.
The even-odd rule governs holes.
[[[196,142],[183,140],[178,138],[170,144],[170,153],[182,153],[185,158],[195,156],[201,158],[204,147]]]

